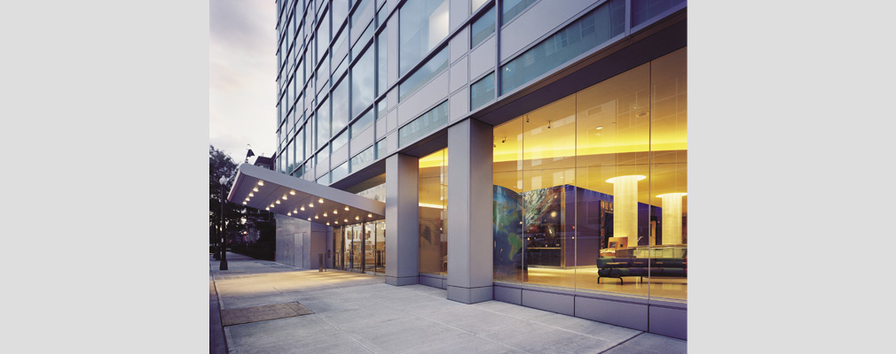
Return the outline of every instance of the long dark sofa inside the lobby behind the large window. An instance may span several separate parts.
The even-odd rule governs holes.
[[[598,283],[600,278],[616,278],[622,284],[624,276],[638,276],[642,282],[645,276],[686,278],[687,258],[598,258]]]

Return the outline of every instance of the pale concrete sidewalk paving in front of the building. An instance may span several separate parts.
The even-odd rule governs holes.
[[[211,259],[211,257],[210,257]],[[425,285],[318,273],[228,253],[211,260],[211,352],[230,353],[685,353],[687,341],[500,301],[466,305]],[[214,311],[297,301],[314,314],[221,333]],[[219,308],[216,308],[215,302]],[[217,338],[217,339],[216,339]],[[218,341],[216,343],[216,341]]]

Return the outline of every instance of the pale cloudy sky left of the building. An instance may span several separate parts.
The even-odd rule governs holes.
[[[276,149],[274,0],[211,0],[209,139],[237,163]],[[249,159],[253,162],[254,158]]]

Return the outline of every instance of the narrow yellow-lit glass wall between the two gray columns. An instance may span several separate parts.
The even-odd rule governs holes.
[[[419,271],[448,272],[448,149],[419,160]]]

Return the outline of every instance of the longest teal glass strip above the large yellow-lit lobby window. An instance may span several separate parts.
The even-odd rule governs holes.
[[[506,4],[506,3],[505,3]],[[625,30],[625,1],[610,0],[501,67],[501,94],[570,61]]]

